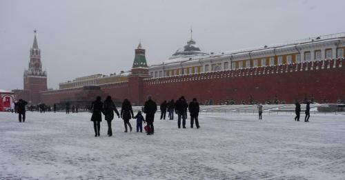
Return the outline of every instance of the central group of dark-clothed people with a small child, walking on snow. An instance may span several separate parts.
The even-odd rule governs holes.
[[[177,126],[181,128],[181,120],[182,120],[182,128],[186,128],[186,118],[187,118],[187,110],[190,112],[190,128],[193,128],[194,122],[197,128],[200,128],[198,116],[199,116],[199,103],[197,99],[193,99],[192,102],[187,103],[186,99],[182,96],[180,97],[175,103],[174,100],[171,100],[169,103],[164,101],[161,103],[161,119],[165,119],[166,111],[169,111],[169,118],[173,119],[173,112],[177,113],[178,121]],[[132,110],[132,105],[128,99],[124,99],[121,106],[121,112],[119,112],[115,106],[115,103],[112,101],[110,96],[106,97],[104,102],[101,101],[101,97],[97,97],[96,101],[92,102],[91,111],[91,121],[93,121],[93,126],[95,130],[95,137],[100,136],[100,129],[101,129],[101,114],[103,113],[105,116],[105,120],[108,124],[108,136],[112,136],[112,126],[111,122],[114,119],[114,113],[117,114],[118,118],[124,120],[124,132],[128,132],[128,128],[130,132],[132,132],[132,125],[130,124],[130,119],[136,119],[137,121],[137,132],[143,131],[143,123],[146,123],[146,132],[148,135],[152,135],[155,133],[155,127],[153,123],[155,121],[155,113],[157,112],[157,103],[152,100],[151,96],[148,96],[148,100],[144,104],[144,113],[146,117],[144,118],[141,110],[134,115]]]

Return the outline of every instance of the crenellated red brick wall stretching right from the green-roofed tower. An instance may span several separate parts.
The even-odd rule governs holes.
[[[324,66],[321,61],[146,79],[144,97],[152,94],[152,99],[158,103],[165,99],[177,99],[181,95],[188,100],[196,97],[203,102],[213,99],[214,103],[226,99],[248,103],[250,95],[262,103],[275,96],[286,103],[293,103],[295,99],[304,100],[304,97],[335,103],[337,99],[345,99],[345,68],[341,65],[344,59],[338,59],[336,66],[334,62],[325,61]]]

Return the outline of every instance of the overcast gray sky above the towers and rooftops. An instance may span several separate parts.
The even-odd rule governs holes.
[[[130,70],[139,40],[159,63],[193,39],[222,52],[345,32],[345,1],[0,0],[0,89],[23,88],[37,29],[48,87]]]

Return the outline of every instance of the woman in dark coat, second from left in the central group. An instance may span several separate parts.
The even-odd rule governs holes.
[[[105,115],[105,118],[107,123],[108,123],[108,136],[112,136],[112,129],[111,129],[111,121],[112,119],[114,119],[114,111],[117,114],[117,117],[120,117],[119,112],[117,111],[117,108],[114,104],[114,102],[112,101],[111,97],[108,96],[106,98],[106,101],[104,101],[103,103],[103,113]]]

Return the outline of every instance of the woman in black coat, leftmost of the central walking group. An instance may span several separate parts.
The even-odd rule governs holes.
[[[102,108],[103,108],[103,103],[101,101],[101,97],[97,97],[96,101],[93,101],[91,105],[91,110],[92,110],[91,121],[93,121],[93,128],[95,129],[95,137],[100,135],[99,130],[101,129]]]

